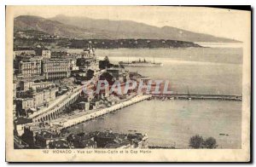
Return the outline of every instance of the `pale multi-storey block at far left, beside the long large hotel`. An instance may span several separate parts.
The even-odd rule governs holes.
[[[21,78],[33,78],[41,75],[42,59],[36,57],[29,60],[21,60],[19,63],[19,74]]]

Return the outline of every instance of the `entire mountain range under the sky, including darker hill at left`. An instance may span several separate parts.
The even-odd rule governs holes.
[[[38,16],[21,15],[15,18],[15,31],[38,30],[60,37],[84,39],[171,39],[189,42],[237,42],[207,34],[185,31],[172,26],[149,26],[131,20],[96,20],[87,17],[56,15],[44,19]]]

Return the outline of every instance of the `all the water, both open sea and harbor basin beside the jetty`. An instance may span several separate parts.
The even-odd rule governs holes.
[[[154,79],[168,79],[172,90],[187,93],[241,95],[242,49],[109,49],[96,50],[102,59],[154,60],[163,67],[129,67]],[[192,135],[214,137],[219,148],[241,147],[241,101],[143,101],[104,119],[72,127],[75,131],[137,130],[154,146],[188,148]],[[228,135],[219,135],[220,133]]]

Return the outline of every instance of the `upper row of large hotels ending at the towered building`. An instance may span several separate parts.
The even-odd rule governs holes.
[[[51,56],[51,50],[40,46],[35,49],[15,49],[15,68],[17,78],[69,78],[72,72],[99,69],[95,51],[85,49],[81,53],[65,57]]]

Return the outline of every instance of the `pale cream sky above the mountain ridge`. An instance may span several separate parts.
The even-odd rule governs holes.
[[[16,6],[15,16],[51,18],[57,14],[93,19],[133,20],[151,26],[173,26],[191,32],[245,40],[250,13],[232,9],[167,6]],[[247,36],[246,36],[247,37]]]

